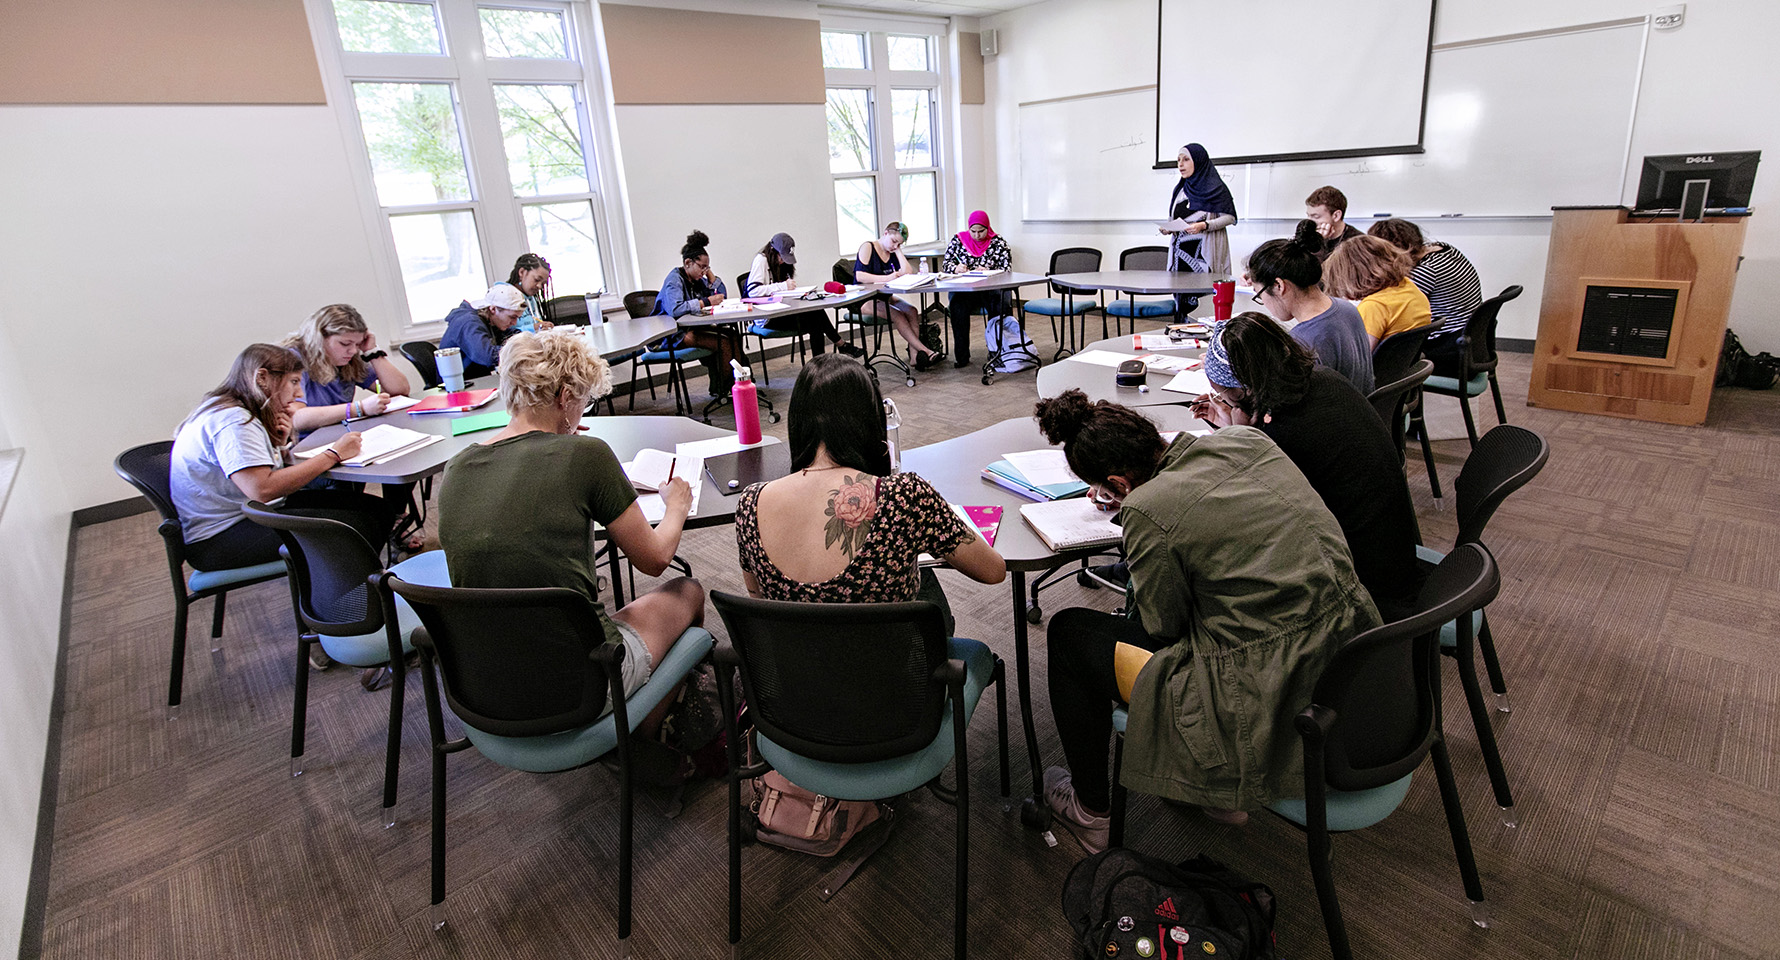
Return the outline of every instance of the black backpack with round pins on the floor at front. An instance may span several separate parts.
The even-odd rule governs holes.
[[[1063,882],[1077,960],[1273,960],[1273,891],[1209,857],[1112,848]]]

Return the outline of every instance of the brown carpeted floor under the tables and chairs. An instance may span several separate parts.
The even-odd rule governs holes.
[[[1050,335],[1032,333],[1048,354]],[[1508,417],[1550,440],[1550,465],[1486,536],[1504,574],[1490,622],[1515,709],[1495,728],[1518,828],[1497,821],[1445,666],[1447,734],[1495,921],[1477,930],[1467,919],[1424,768],[1396,816],[1335,841],[1355,951],[1780,955],[1780,397],[1721,390],[1711,424],[1668,427],[1531,410],[1529,367],[1529,356],[1504,356]],[[776,360],[771,372],[767,392],[783,410],[794,370]],[[886,395],[902,408],[904,443],[918,445],[1029,415],[1034,390],[1031,372],[983,386],[947,365],[915,388],[886,378]],[[1438,436],[1463,436],[1456,401],[1428,403]],[[1493,424],[1493,411],[1481,420]],[[1436,443],[1449,497],[1467,451],[1463,440]],[[1435,508],[1415,458],[1408,474],[1424,538],[1447,547],[1451,509]],[[516,509],[527,495],[516,493]],[[352,671],[312,677],[308,771],[287,773],[294,639],[283,582],[231,597],[212,655],[199,604],[183,714],[169,723],[171,598],[153,518],[85,527],[77,550],[44,956],[614,955],[611,773],[538,777],[475,752],[454,755],[450,926],[434,933],[418,684],[408,696],[400,819],[384,830],[386,698],[363,693]],[[740,590],[732,529],[691,533],[680,552],[707,588]],[[942,579],[959,634],[1011,663],[1007,588]],[[1112,598],[1066,582],[1043,606],[1111,609]],[[1034,632],[1041,750],[1061,762],[1043,671]],[[993,743],[984,711],[970,730],[972,953],[1066,956],[1057,901],[1079,848],[1066,837],[1047,848],[1004,807]],[[1013,769],[1018,798],[1018,752]],[[723,956],[724,793],[689,789],[675,819],[664,805],[662,794],[639,803],[635,953]],[[888,846],[829,903],[815,896],[826,860],[746,848],[742,951],[949,956],[952,816],[929,794],[906,798]],[[1129,842],[1171,858],[1205,851],[1273,885],[1282,953],[1328,955],[1303,837],[1287,823],[1260,814],[1244,828],[1219,826],[1134,796]]]

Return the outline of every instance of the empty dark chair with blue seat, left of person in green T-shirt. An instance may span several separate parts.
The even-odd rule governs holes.
[[[393,616],[372,590],[383,572],[377,550],[349,524],[324,517],[292,517],[249,500],[247,518],[278,533],[278,549],[290,570],[290,607],[297,634],[297,682],[290,712],[290,775],[303,777],[303,741],[310,696],[310,647],[320,643],[335,663],[390,668],[390,737],[383,762],[383,825],[395,825],[395,777],[402,746],[402,655],[420,620],[408,600],[395,600]],[[429,586],[450,586],[445,554],[415,554],[392,574]]]

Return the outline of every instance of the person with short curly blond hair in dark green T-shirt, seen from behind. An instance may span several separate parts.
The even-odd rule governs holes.
[[[630,695],[675,639],[703,622],[705,590],[678,577],[612,614],[600,606],[589,524],[603,525],[637,570],[659,577],[680,547],[692,504],[684,479],[668,481],[668,513],[650,527],[605,440],[575,435],[587,404],[611,390],[605,360],[580,337],[520,333],[509,340],[500,351],[500,397],[513,422],[445,465],[440,545],[452,586],[562,586],[593,600],[605,638],[625,647]],[[548,493],[514,499],[516,492]],[[653,736],[673,700],[637,723],[637,732]]]

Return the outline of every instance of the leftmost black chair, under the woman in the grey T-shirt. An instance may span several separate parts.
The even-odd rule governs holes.
[[[180,529],[180,509],[173,506],[173,440],[157,440],[130,447],[117,454],[112,470],[153,504],[160,515],[160,540],[167,549],[167,575],[173,579],[173,664],[167,670],[167,720],[180,716],[180,693],[185,680],[185,622],[190,607],[205,597],[215,597],[210,614],[210,650],[222,638],[222,607],[228,591],[276,581],[285,575],[285,561],[231,566],[228,570],[198,570],[185,575],[185,534]]]

